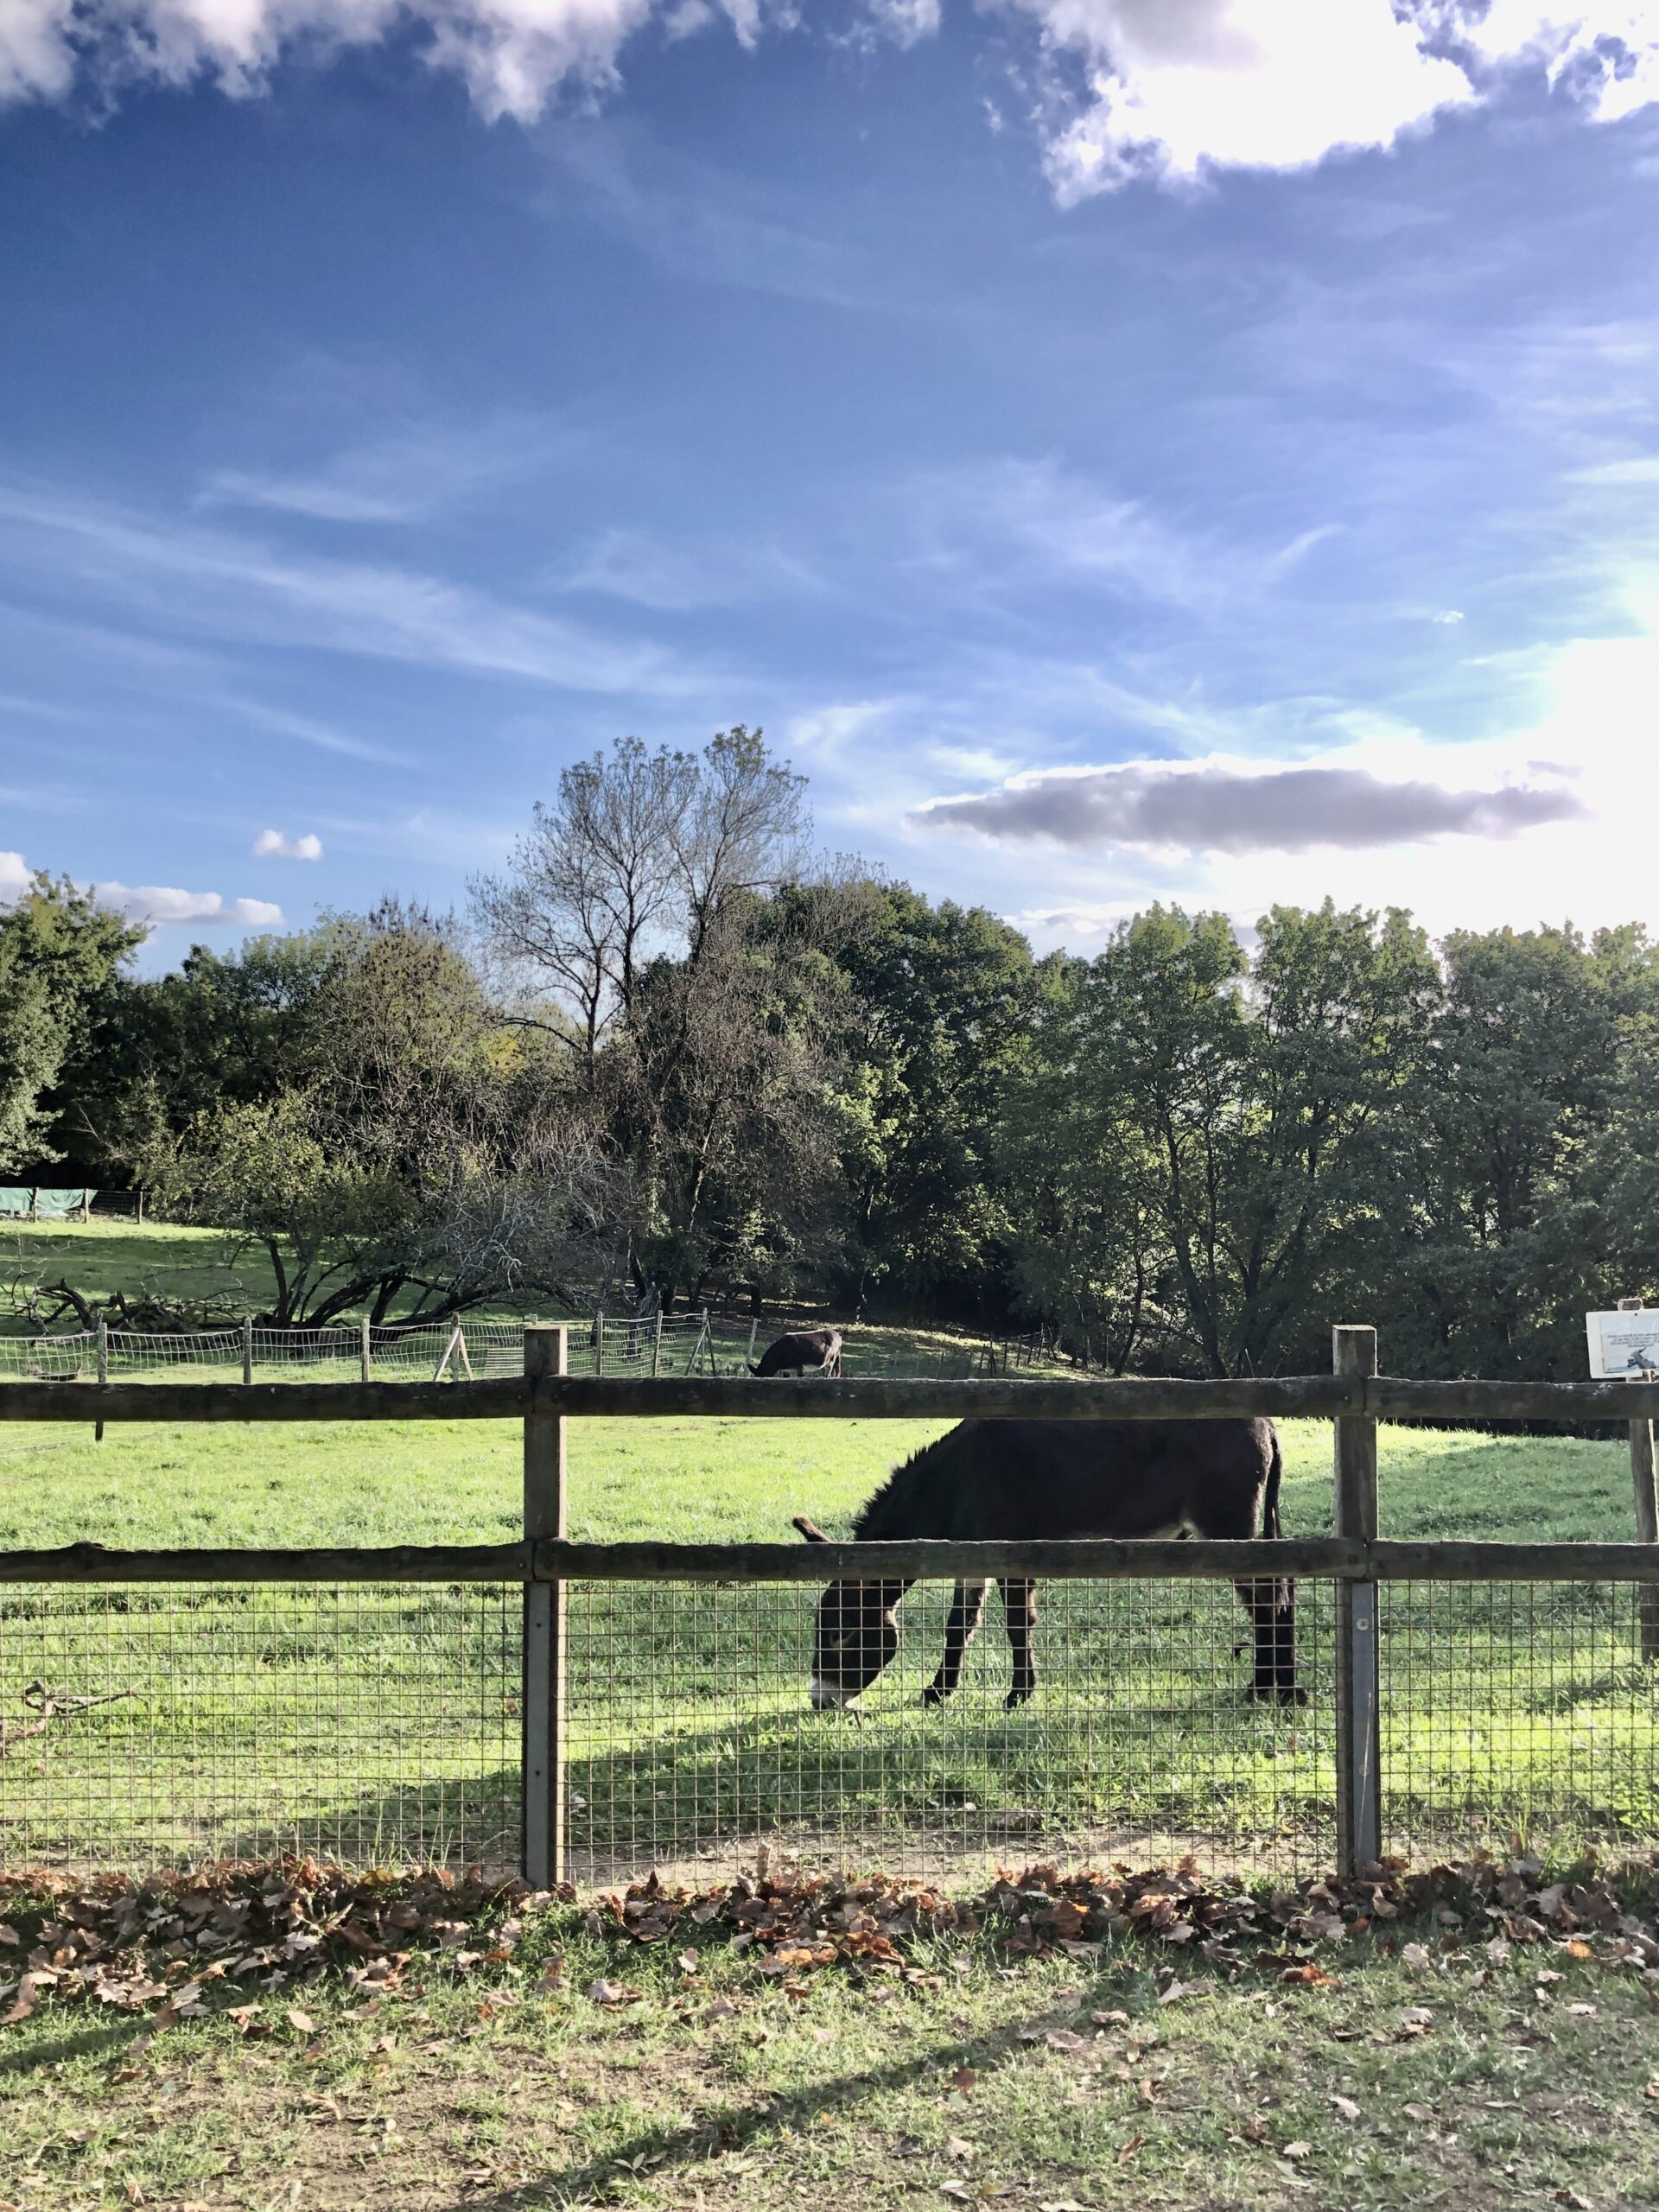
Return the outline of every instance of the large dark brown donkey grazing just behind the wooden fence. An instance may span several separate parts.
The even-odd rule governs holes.
[[[1279,1433],[1270,1420],[964,1420],[909,1458],[863,1506],[854,1542],[942,1537],[1259,1537],[1279,1531]],[[810,1544],[830,1537],[805,1515]],[[1037,1688],[1031,1632],[1035,1584],[1000,1577],[1013,1648],[1009,1705]],[[818,1599],[812,1703],[849,1705],[898,1650],[898,1599],[909,1582],[832,1582]],[[984,1582],[958,1582],[945,1659],[925,1692],[949,1697],[980,1626]],[[1234,1582],[1250,1615],[1252,1697],[1305,1703],[1296,1683],[1296,1586],[1287,1577]]]

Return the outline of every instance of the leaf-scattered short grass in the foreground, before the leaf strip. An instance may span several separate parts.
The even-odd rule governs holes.
[[[1002,1964],[918,1951],[920,1984],[816,1975],[799,1997],[730,1947],[582,1911],[533,1922],[502,1982],[431,1973],[400,2002],[338,1980],[254,1991],[135,2042],[42,2006],[0,2033],[0,2201],[29,2212],[294,2212],[613,2203],[1383,2208],[1659,2203],[1652,1995],[1517,1953],[1436,1960],[1436,1924],[1332,1958],[1321,1989],[1141,1949]],[[540,1960],[560,1951],[546,1989]],[[1349,1955],[1356,1953],[1356,1955]],[[630,1995],[599,2006],[597,1980]]]

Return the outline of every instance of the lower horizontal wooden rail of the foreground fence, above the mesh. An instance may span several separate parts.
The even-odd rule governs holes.
[[[301,1551],[0,1551],[0,1584],[416,1584],[416,1582],[1659,1582],[1655,1544],[1467,1544],[1150,1537],[1024,1544],[387,1544]]]

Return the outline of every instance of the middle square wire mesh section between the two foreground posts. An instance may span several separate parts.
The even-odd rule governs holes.
[[[1009,1712],[1002,1606],[922,1705],[949,1584],[900,1652],[814,1712],[814,1584],[568,1586],[568,1869],[708,1878],[759,1843],[838,1869],[971,1878],[1037,1858],[1301,1869],[1334,1849],[1332,1588],[1298,1593],[1307,1705],[1256,1703],[1250,1624],[1217,1582],[1040,1586],[1035,1697]]]

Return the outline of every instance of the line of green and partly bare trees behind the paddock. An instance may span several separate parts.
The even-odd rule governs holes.
[[[0,918],[0,1172],[257,1241],[281,1323],[741,1290],[1115,1371],[1310,1369],[1365,1316],[1394,1371],[1551,1376],[1659,1285],[1637,925],[1152,907],[1035,960],[814,860],[734,728],[568,768],[460,920],[135,947],[44,876]]]

